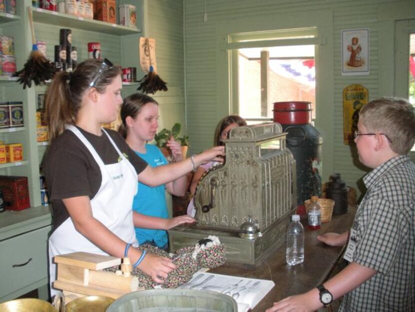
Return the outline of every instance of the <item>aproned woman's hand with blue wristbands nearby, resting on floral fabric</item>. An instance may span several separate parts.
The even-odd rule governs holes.
[[[171,259],[147,253],[137,266],[157,283],[163,283],[167,274],[176,268]]]

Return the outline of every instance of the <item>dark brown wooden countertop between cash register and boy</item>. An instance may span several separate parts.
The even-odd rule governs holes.
[[[220,266],[212,269],[212,273],[272,279],[275,286],[252,309],[252,312],[263,312],[272,306],[274,301],[286,296],[299,294],[317,286],[326,280],[335,264],[342,257],[343,247],[327,246],[317,240],[317,235],[326,232],[342,233],[350,229],[355,207],[349,207],[349,212],[333,216],[330,222],[323,223],[318,230],[309,230],[306,220],[301,219],[305,231],[304,262],[295,266],[285,263],[285,244],[273,252],[262,264],[255,269]]]

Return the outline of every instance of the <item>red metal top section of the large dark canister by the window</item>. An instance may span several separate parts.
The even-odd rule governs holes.
[[[273,103],[274,122],[282,125],[302,125],[311,123],[311,102]]]

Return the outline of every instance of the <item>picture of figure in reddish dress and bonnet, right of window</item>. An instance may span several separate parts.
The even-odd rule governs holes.
[[[369,29],[341,31],[341,75],[369,75]]]

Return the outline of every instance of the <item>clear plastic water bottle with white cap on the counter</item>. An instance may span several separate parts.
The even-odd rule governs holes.
[[[304,261],[304,228],[299,222],[299,215],[291,216],[287,228],[287,245],[285,260],[288,265],[296,265]]]

